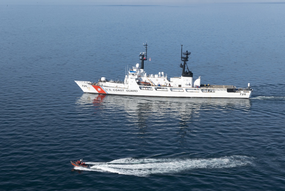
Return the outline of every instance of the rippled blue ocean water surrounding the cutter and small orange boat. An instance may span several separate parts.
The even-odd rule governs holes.
[[[285,190],[285,4],[1,5],[1,190]],[[148,74],[250,99],[84,94]],[[90,169],[73,167],[84,159]]]

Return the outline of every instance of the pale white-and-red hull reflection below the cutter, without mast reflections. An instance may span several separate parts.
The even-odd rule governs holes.
[[[93,109],[124,109],[129,117],[147,115],[176,115],[182,119],[192,112],[205,109],[230,111],[234,109],[249,111],[251,99],[232,98],[175,98],[140,97],[124,95],[83,94],[78,100],[79,107],[91,106]]]

